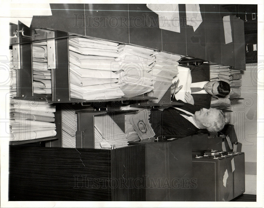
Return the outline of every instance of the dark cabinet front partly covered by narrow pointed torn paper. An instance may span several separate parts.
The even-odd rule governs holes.
[[[202,16],[202,23],[194,31],[193,27],[186,25],[186,45],[187,55],[196,58],[206,59],[205,50],[205,21],[204,21],[204,4],[199,4]]]

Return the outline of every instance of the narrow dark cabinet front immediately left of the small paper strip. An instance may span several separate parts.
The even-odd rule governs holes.
[[[205,4],[206,60],[221,63],[221,35],[219,4]]]

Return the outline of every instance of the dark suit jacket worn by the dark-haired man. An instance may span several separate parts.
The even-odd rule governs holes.
[[[191,70],[192,83],[210,81],[209,65],[205,66],[186,66]],[[194,98],[194,105],[197,110],[201,108],[210,108],[212,96],[206,94],[191,94]]]

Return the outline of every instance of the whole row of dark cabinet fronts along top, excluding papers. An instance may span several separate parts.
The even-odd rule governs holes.
[[[179,4],[180,33],[159,28],[158,15],[146,4],[50,4],[52,16],[34,16],[32,28],[51,28],[121,43],[188,55],[240,69],[245,59],[243,21],[231,16],[232,43],[225,44],[219,4],[199,4],[202,23],[186,25],[185,4]]]

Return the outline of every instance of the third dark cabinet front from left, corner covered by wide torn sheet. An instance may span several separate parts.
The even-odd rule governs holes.
[[[146,4],[129,4],[129,43],[162,50],[158,15]]]

